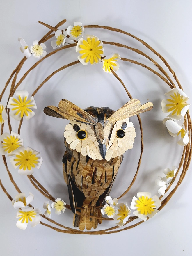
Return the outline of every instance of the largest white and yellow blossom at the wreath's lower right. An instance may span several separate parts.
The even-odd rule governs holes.
[[[151,198],[149,192],[138,192],[137,197],[133,197],[130,207],[132,210],[136,210],[133,212],[134,215],[146,221],[147,216],[152,218],[159,211],[157,208],[161,206],[161,202],[157,195]]]

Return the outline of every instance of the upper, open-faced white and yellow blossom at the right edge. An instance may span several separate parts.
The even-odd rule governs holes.
[[[177,88],[173,88],[165,95],[168,96],[168,99],[163,99],[161,102],[163,113],[170,113],[168,117],[181,120],[189,109],[190,104],[186,103],[189,98],[181,89]]]

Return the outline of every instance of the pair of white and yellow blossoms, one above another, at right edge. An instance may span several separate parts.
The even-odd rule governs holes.
[[[165,94],[168,99],[163,99],[161,102],[161,107],[163,113],[170,113],[167,118],[163,120],[168,132],[171,136],[181,136],[181,139],[177,142],[181,146],[187,145],[189,143],[189,136],[184,128],[180,126],[173,119],[179,121],[182,116],[185,116],[189,110],[190,104],[186,103],[188,101],[187,95],[177,88],[173,88],[168,93]]]

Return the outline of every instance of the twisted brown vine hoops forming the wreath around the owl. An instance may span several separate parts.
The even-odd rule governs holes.
[[[50,31],[44,35],[41,40],[39,41],[40,43],[41,42],[46,42],[47,40],[51,39],[54,34],[51,34],[53,31],[56,31],[58,29],[58,27],[60,27],[61,25],[63,25],[64,23],[66,22],[66,19],[62,20],[61,22],[59,22],[55,27],[52,27],[48,24],[45,24],[43,22],[40,22],[40,24],[46,26],[47,28],[50,29]],[[134,35],[131,35],[130,33],[127,33],[121,29],[115,29],[115,28],[112,28],[112,27],[109,27],[109,26],[98,26],[98,25],[88,25],[88,26],[84,26],[84,28],[101,28],[101,29],[107,29],[107,30],[110,30],[110,31],[113,31],[113,32],[118,32],[118,33],[122,33],[122,34],[125,34],[127,36],[130,36],[132,38],[134,38],[135,40],[137,40],[138,42],[142,43],[145,47],[147,47],[150,51],[152,51],[155,55],[157,55],[162,63],[168,68],[170,74],[173,76],[173,78],[175,79],[178,87],[180,89],[182,89],[182,86],[181,84],[179,83],[179,80],[175,74],[175,72],[172,70],[172,68],[169,66],[169,64],[167,63],[167,61],[159,54],[157,53],[157,51],[155,51],[150,45],[148,45],[146,42],[144,42],[143,40],[137,38],[136,36]],[[152,68],[146,66],[145,64],[142,64],[142,63],[139,63],[137,61],[134,61],[134,60],[130,60],[130,59],[127,59],[127,58],[121,58],[122,61],[127,61],[127,62],[130,62],[130,63],[133,63],[133,64],[136,64],[136,65],[140,65],[144,68],[146,68],[147,70],[149,70],[150,72],[152,72],[153,74],[157,75],[160,79],[162,79],[171,89],[173,88],[176,88],[175,84],[173,83],[173,81],[171,80],[171,78],[169,77],[168,73],[156,62],[154,61],[152,58],[150,58],[147,54],[143,53],[142,51],[140,51],[139,49],[135,49],[135,48],[132,48],[132,47],[129,47],[127,45],[122,45],[120,43],[115,43],[115,42],[105,42],[103,41],[104,44],[109,44],[109,45],[114,45],[116,47],[123,47],[125,49],[129,49],[131,51],[134,51],[136,52],[137,54],[140,54],[142,56],[144,56],[145,58],[147,58],[148,60],[150,60],[158,69],[159,71],[163,74],[160,74],[158,72],[156,72],[155,70],[153,70]],[[17,67],[15,68],[15,70],[13,70],[12,74],[10,75],[10,78],[8,79],[8,81],[6,82],[5,84],[5,87],[3,88],[3,91],[0,95],[0,101],[6,91],[6,89],[8,88],[8,85],[10,84],[10,81],[11,79],[13,78],[12,82],[11,82],[11,86],[10,86],[10,94],[9,94],[9,97],[8,97],[8,100],[10,97],[13,96],[13,94],[15,93],[15,90],[17,90],[17,88],[19,87],[19,85],[22,83],[22,81],[24,81],[24,79],[26,78],[26,76],[31,72],[31,70],[33,70],[35,67],[37,67],[42,61],[44,61],[45,59],[49,58],[49,56],[57,53],[58,51],[62,51],[63,49],[68,49],[68,48],[71,48],[71,47],[74,47],[77,45],[77,42],[75,41],[74,44],[72,45],[65,45],[59,49],[56,49],[55,51],[52,51],[51,53],[47,54],[44,58],[40,59],[39,61],[37,61],[24,75],[23,77],[19,80],[19,82],[16,84],[16,79],[17,79],[17,75],[19,74],[22,66],[24,65],[24,62],[26,61],[26,57],[22,58],[22,60],[19,62],[19,64],[17,65]],[[64,65],[63,67],[59,68],[58,70],[54,71],[52,74],[50,74],[39,86],[38,88],[33,92],[32,96],[34,96],[38,90],[51,78],[53,77],[56,73],[64,70],[65,68],[67,67],[71,67],[73,65],[76,65],[79,63],[79,60],[78,61],[74,61],[72,63],[69,63],[67,65]],[[127,90],[125,84],[122,82],[122,80],[120,79],[120,77],[118,77],[118,75],[113,71],[111,70],[112,74],[116,77],[116,79],[118,79],[118,81],[122,84],[122,86],[124,87],[128,97],[130,99],[132,99],[132,96],[131,94],[129,93],[129,91]],[[15,85],[16,84],[16,85]],[[8,126],[9,126],[9,130],[11,131],[12,130],[12,127],[11,127],[11,122],[10,122],[10,116],[9,116],[9,109],[6,108],[6,111],[7,111],[7,115],[8,115]],[[139,157],[139,161],[138,161],[138,166],[137,166],[137,170],[136,170],[136,173],[132,179],[132,182],[131,184],[128,186],[128,188],[126,189],[126,191],[124,193],[122,193],[122,195],[120,195],[118,197],[121,198],[122,196],[124,196],[130,189],[131,189],[131,186],[134,184],[135,180],[136,180],[136,177],[138,175],[138,171],[139,171],[139,168],[141,166],[141,158],[142,158],[142,154],[143,154],[143,129],[142,129],[142,123],[141,123],[141,118],[139,115],[137,115],[137,118],[138,118],[138,121],[139,121],[139,125],[140,125],[140,131],[141,131],[141,154],[140,154],[140,157]],[[20,131],[21,131],[21,126],[22,126],[22,122],[23,122],[23,119],[21,119],[20,123],[19,123],[19,127],[18,127],[18,134],[20,134]],[[191,155],[192,155],[192,138],[191,138],[191,131],[192,131],[192,123],[191,123],[191,118],[190,118],[190,115],[189,115],[189,111],[186,113],[185,115],[185,119],[184,119],[184,126],[185,126],[185,129],[186,131],[188,131],[188,134],[189,134],[189,139],[190,139],[190,143],[188,143],[186,146],[184,146],[184,149],[183,149],[183,153],[182,153],[182,156],[181,156],[181,160],[180,160],[180,163],[179,163],[179,167],[177,169],[177,172],[176,172],[176,175],[174,177],[174,180],[176,179],[176,177],[179,175],[179,171],[182,169],[181,173],[180,173],[180,177],[179,177],[179,180],[177,182],[177,184],[175,185],[175,187],[173,188],[173,190],[166,196],[165,199],[163,199],[161,201],[161,206],[159,207],[159,210],[161,210],[167,203],[168,201],[170,200],[170,198],[173,196],[173,194],[175,193],[175,191],[177,190],[178,186],[182,183],[185,175],[186,175],[186,172],[189,168],[189,164],[190,164],[190,161],[191,161]],[[3,129],[4,129],[4,124],[1,126],[1,134],[3,134]],[[19,189],[19,187],[17,186],[16,182],[14,181],[13,179],[13,176],[12,174],[10,173],[9,169],[8,169],[8,166],[7,166],[7,161],[6,161],[6,157],[3,156],[3,163],[6,167],[6,170],[7,170],[7,173],[8,173],[8,176],[10,178],[10,181],[13,183],[15,189],[17,190],[18,193],[21,193],[21,190]],[[45,189],[45,187],[43,187],[40,182],[33,176],[33,175],[28,175],[28,178],[30,180],[30,182],[33,184],[33,186],[40,192],[42,193],[46,198],[54,201],[55,198],[47,191],[47,189]],[[173,181],[174,181],[173,180]],[[0,185],[1,185],[1,188],[3,189],[4,193],[6,193],[6,195],[8,196],[8,198],[12,201],[12,197],[11,195],[7,192],[6,188],[3,186],[2,182],[1,182],[1,179],[0,179]],[[169,191],[169,189],[171,188],[171,186],[173,185],[173,182],[171,182],[169,184],[169,186],[167,187],[166,189],[166,193]],[[163,196],[160,196],[159,199],[161,200]],[[70,205],[66,205],[66,208],[68,209],[71,209],[70,208]],[[80,209],[80,208],[79,208]],[[80,215],[83,215],[82,213],[80,213],[79,211],[77,211],[77,214],[80,214]],[[90,217],[89,215],[87,214],[84,214],[85,216],[88,216]],[[47,223],[43,223],[43,222],[40,222],[42,225],[46,226],[46,227],[49,227],[53,230],[56,230],[58,232],[62,232],[62,233],[68,233],[68,234],[111,234],[111,233],[118,233],[122,230],[128,230],[128,229],[131,229],[133,227],[136,227],[138,225],[140,225],[141,223],[143,223],[144,221],[139,221],[133,225],[129,225],[129,226],[126,226],[124,228],[119,228],[118,226],[113,226],[113,227],[110,227],[108,229],[104,229],[104,230],[96,230],[96,231],[81,231],[81,230],[77,230],[77,229],[74,229],[74,228],[70,228],[70,227],[66,227],[60,223],[57,223],[56,221],[52,220],[52,219],[49,219],[47,217],[45,217],[44,214],[41,214],[41,216],[46,219],[47,221],[57,225],[58,227],[54,227],[54,226],[51,226]],[[109,218],[103,218],[103,217],[94,217],[94,216],[91,216],[91,218],[97,218],[97,219],[100,219],[100,220],[112,220],[112,219],[109,219]],[[125,225],[131,223],[132,221],[136,220],[137,217],[136,216],[133,216],[133,217],[130,217],[129,220],[126,222]],[[149,218],[147,218],[148,220]],[[62,228],[62,229],[61,229]]]

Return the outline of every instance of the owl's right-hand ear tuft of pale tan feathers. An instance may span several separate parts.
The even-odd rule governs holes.
[[[131,99],[120,109],[115,111],[107,120],[110,122],[117,122],[118,120],[122,120],[125,118],[129,118],[133,115],[138,115],[143,112],[149,111],[153,108],[153,104],[151,102],[147,102],[141,105],[141,102],[138,99]]]

